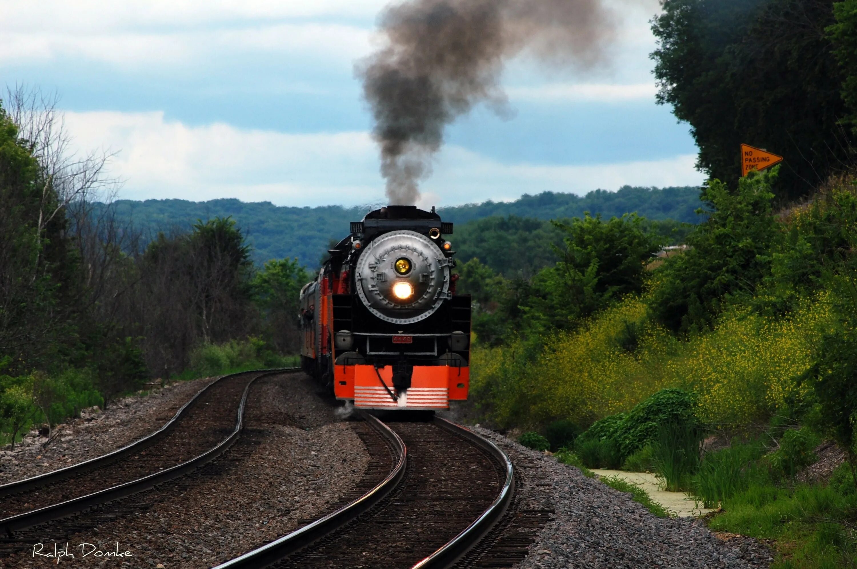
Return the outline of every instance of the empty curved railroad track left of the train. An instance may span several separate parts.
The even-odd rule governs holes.
[[[285,371],[297,369],[223,376],[150,436],[95,459],[0,486],[0,552],[26,542],[21,530],[152,489],[215,459],[240,434],[250,384]]]

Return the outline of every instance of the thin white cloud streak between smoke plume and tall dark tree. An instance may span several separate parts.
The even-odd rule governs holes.
[[[630,101],[653,100],[657,87],[654,83],[614,85],[610,83],[554,83],[536,86],[506,87],[512,101]]]

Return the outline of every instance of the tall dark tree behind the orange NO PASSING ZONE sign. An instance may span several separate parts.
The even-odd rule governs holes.
[[[833,23],[829,0],[665,0],[657,101],[690,123],[700,169],[734,187],[740,144],[769,148],[786,158],[777,196],[789,200],[848,163]]]

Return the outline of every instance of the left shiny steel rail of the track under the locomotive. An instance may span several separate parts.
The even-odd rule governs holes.
[[[324,518],[317,519],[312,524],[292,531],[289,535],[267,543],[261,546],[261,548],[254,549],[235,559],[226,561],[214,567],[214,569],[257,569],[276,563],[288,555],[297,552],[297,550],[321,539],[321,537],[327,536],[332,531],[338,530],[352,520],[357,519],[358,516],[367,512],[371,507],[374,507],[375,504],[383,500],[399,485],[399,482],[405,477],[405,467],[407,465],[408,449],[405,447],[405,442],[402,441],[401,437],[395,431],[379,419],[366,412],[358,411],[358,413],[381,436],[384,436],[387,441],[393,443],[393,447],[398,450],[399,462],[393,468],[393,471],[390,471],[390,474],[375,488],[369,490],[369,492],[357,498],[357,500],[340,507],[336,512],[329,513]]]

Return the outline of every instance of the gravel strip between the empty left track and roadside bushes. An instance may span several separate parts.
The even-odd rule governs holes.
[[[81,418],[56,425],[47,446],[43,446],[47,437],[32,430],[14,451],[0,450],[0,484],[75,465],[150,435],[213,380],[173,383],[112,402],[105,411],[82,412]]]

